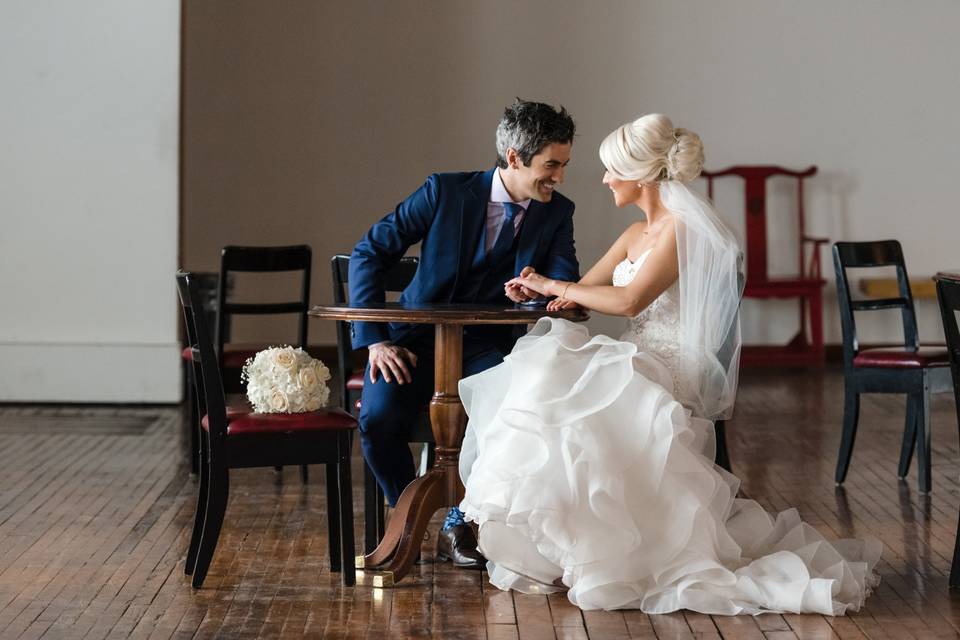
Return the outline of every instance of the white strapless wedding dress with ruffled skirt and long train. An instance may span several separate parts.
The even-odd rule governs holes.
[[[646,255],[618,265],[614,285]],[[460,508],[480,526],[490,582],[567,589],[583,609],[859,609],[880,543],[827,541],[795,509],[772,517],[735,497],[713,423],[684,408],[678,304],[675,284],[620,340],[542,318],[503,364],[461,381]]]

